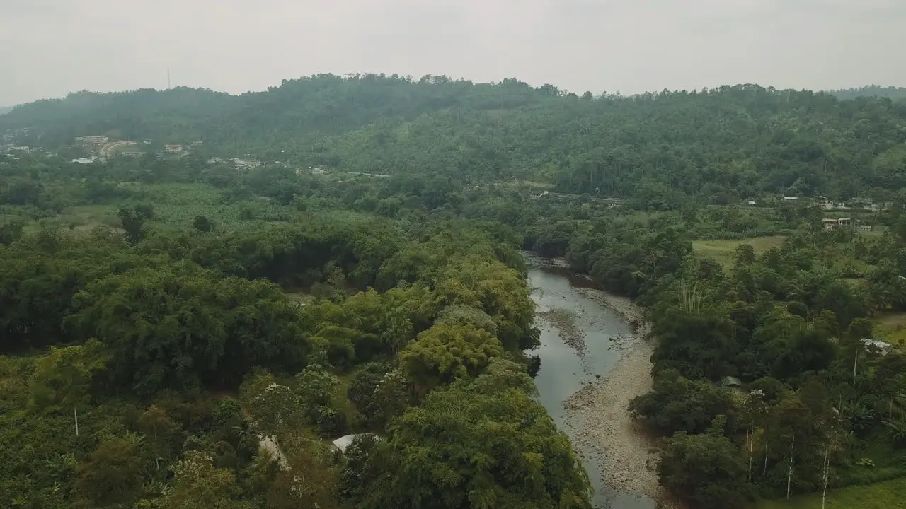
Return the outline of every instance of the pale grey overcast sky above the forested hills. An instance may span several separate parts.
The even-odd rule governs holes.
[[[0,106],[317,72],[581,93],[906,86],[906,0],[0,0]]]

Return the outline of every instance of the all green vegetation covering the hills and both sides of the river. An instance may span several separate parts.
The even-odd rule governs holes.
[[[900,102],[318,76],[0,122],[58,150],[0,161],[3,504],[589,507],[519,249],[647,307],[687,503],[906,476]],[[92,133],[204,143],[61,155]]]

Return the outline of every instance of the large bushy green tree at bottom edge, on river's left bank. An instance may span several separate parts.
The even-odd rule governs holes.
[[[393,421],[368,457],[359,507],[590,507],[569,439],[522,389],[487,376],[435,389]],[[525,370],[513,377],[531,384]]]

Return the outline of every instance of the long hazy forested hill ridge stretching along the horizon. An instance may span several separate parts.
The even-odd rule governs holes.
[[[637,96],[516,80],[318,75],[240,96],[178,88],[38,101],[0,117],[76,136],[204,141],[211,154],[374,173],[531,178],[681,206],[689,196],[853,197],[906,187],[906,102],[757,85]],[[857,94],[858,95],[858,94]]]

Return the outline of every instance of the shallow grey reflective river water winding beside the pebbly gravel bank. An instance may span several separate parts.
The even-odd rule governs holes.
[[[531,260],[530,260],[531,263]],[[594,379],[604,377],[621,357],[619,338],[631,335],[631,326],[623,322],[617,312],[602,305],[589,295],[592,285],[564,269],[532,263],[528,284],[537,313],[568,312],[573,327],[581,332],[586,350],[580,354],[567,344],[554,323],[538,317],[541,346],[528,353],[541,358],[541,369],[535,378],[539,401],[554,418],[554,423],[570,436],[594,488],[593,506],[610,509],[653,509],[653,501],[614,492],[602,481],[601,468],[590,446],[582,446],[575,439],[567,423],[564,401]],[[583,450],[584,449],[584,450]]]

